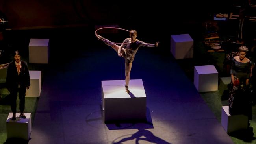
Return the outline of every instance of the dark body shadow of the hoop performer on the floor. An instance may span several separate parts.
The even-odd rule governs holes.
[[[138,130],[139,131],[132,134],[130,137],[126,137],[128,135],[124,135],[122,137],[126,137],[126,138],[122,138],[122,137],[116,138],[113,141],[113,144],[121,144],[122,142],[126,142],[128,140],[133,140],[133,139],[135,139],[135,141],[136,141],[135,144],[139,144],[139,140],[148,141],[148,142],[154,143],[154,144],[171,144],[171,143],[166,142],[165,140],[163,140],[159,137],[156,137],[151,131],[149,131],[147,129],[138,128]],[[121,140],[119,140],[119,139],[121,139]]]

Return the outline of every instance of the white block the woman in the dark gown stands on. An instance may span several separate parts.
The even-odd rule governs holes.
[[[230,115],[228,106],[223,106],[221,109],[221,125],[227,133],[237,131],[239,129],[247,129],[248,117],[245,115]]]

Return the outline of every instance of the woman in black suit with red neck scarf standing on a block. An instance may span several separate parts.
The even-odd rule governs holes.
[[[9,63],[7,68],[6,84],[11,95],[11,111],[13,112],[12,120],[16,120],[16,100],[19,92],[20,99],[20,117],[26,118],[24,115],[26,89],[30,87],[30,76],[28,72],[28,64],[20,59],[20,54],[15,51],[14,61]]]

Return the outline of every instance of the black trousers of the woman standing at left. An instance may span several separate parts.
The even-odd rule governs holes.
[[[24,112],[25,109],[25,96],[26,96],[26,87],[12,89],[10,92],[11,95],[11,111],[16,113],[16,100],[17,94],[19,92],[19,99],[20,99],[20,113]]]

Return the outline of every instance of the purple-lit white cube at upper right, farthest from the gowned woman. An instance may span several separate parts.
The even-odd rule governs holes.
[[[193,44],[189,34],[171,35],[171,53],[175,59],[193,58]]]

